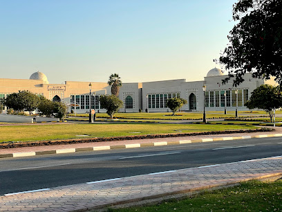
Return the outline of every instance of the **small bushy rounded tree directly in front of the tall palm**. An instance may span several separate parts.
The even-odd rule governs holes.
[[[113,119],[113,114],[123,106],[122,100],[113,94],[111,96],[102,95],[99,100],[101,107],[106,109],[106,114],[111,116],[111,119]]]

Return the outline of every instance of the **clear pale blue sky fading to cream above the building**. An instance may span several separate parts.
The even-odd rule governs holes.
[[[236,0],[0,0],[0,78],[203,80]]]

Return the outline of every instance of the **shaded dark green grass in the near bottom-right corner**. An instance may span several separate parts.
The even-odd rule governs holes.
[[[243,182],[239,186],[205,191],[184,200],[108,211],[282,211],[282,180]]]

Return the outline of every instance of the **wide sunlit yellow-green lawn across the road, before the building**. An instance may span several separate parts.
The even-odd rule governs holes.
[[[176,125],[156,123],[12,125],[0,127],[0,142],[77,139],[79,137],[77,137],[76,135],[82,134],[86,134],[89,137],[108,137],[129,136],[136,134],[167,134],[180,132],[208,132],[241,129],[256,129],[256,127],[243,125]]]

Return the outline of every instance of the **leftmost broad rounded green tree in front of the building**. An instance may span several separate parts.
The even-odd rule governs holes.
[[[39,97],[30,91],[19,91],[12,93],[3,99],[3,105],[15,109],[16,111],[32,111],[35,110],[39,103]]]

